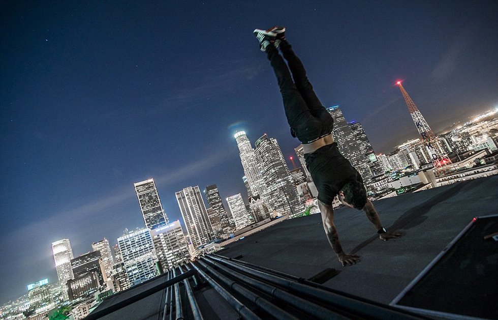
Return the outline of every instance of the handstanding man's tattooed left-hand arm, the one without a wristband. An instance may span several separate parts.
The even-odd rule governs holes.
[[[326,205],[322,201],[318,200],[318,207],[322,212],[322,222],[323,228],[325,229],[325,234],[330,243],[332,249],[334,249],[335,254],[339,262],[344,266],[354,265],[360,261],[360,256],[357,254],[348,255],[344,253],[343,247],[339,243],[339,236],[337,235],[337,230],[334,225],[334,210],[331,205]]]

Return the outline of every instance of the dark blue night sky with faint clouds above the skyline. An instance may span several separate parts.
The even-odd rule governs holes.
[[[1,5],[0,303],[144,226],[133,183],[246,191],[233,138],[290,135],[255,28],[287,27],[324,106],[376,153],[417,137],[394,82],[434,131],[498,105],[495,1],[5,1]],[[381,213],[382,215],[382,213]]]

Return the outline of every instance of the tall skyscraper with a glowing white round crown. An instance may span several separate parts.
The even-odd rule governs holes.
[[[254,149],[251,146],[251,141],[249,141],[244,131],[237,132],[234,137],[237,141],[240,161],[244,168],[245,178],[247,179],[247,195],[253,196],[259,194],[263,201],[266,201],[266,186],[261,173],[263,167],[256,157]]]

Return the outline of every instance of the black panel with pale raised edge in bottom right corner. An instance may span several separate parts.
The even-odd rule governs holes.
[[[397,305],[498,319],[495,232],[498,215],[477,219]]]

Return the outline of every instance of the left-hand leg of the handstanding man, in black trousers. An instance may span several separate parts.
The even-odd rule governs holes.
[[[268,45],[266,54],[275,72],[284,100],[285,114],[291,129],[303,143],[315,140],[320,136],[320,128],[322,127],[320,120],[316,119],[308,109],[308,105],[292,80],[284,59],[278,54],[276,48],[273,45]]]

